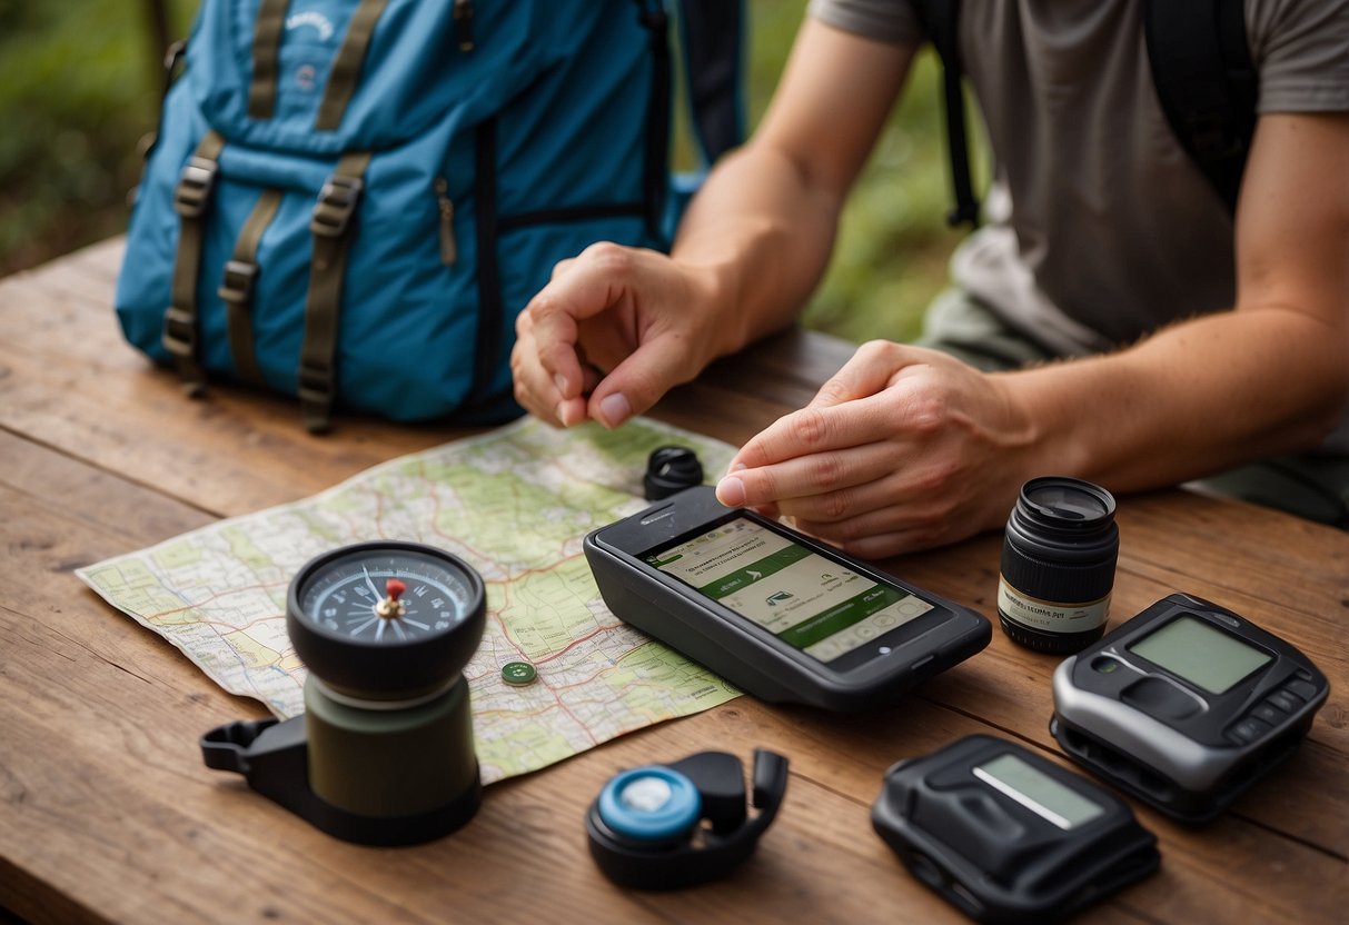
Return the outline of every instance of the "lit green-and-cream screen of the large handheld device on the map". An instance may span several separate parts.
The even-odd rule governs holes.
[[[642,558],[822,662],[934,607],[743,516]]]

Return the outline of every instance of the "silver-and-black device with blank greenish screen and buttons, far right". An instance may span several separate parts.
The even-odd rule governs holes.
[[[1296,751],[1329,690],[1290,643],[1171,595],[1059,665],[1050,731],[1110,783],[1201,824]]]

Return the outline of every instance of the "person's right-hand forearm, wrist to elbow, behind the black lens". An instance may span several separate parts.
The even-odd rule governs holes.
[[[1349,349],[1342,329],[1269,306],[1002,379],[1036,422],[1031,469],[1135,491],[1315,446],[1342,411]]]

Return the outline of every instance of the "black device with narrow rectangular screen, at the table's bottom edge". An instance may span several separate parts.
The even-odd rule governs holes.
[[[909,872],[981,922],[1062,921],[1157,868],[1118,797],[971,735],[885,773],[871,824]]]

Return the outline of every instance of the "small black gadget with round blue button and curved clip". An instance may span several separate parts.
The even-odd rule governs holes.
[[[786,759],[754,751],[750,816],[741,760],[700,751],[612,777],[585,813],[591,856],[607,878],[638,890],[677,890],[734,871],[786,794]]]

